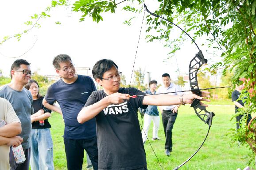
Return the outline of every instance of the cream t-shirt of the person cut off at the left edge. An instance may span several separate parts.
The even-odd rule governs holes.
[[[14,122],[20,123],[19,118],[13,110],[11,103],[4,98],[0,98],[0,120],[4,120],[6,124]],[[0,170],[10,170],[9,152],[9,145],[0,146]]]

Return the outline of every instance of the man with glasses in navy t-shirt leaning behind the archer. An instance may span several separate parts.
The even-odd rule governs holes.
[[[84,150],[89,155],[93,169],[98,166],[98,149],[95,119],[79,124],[78,113],[85,105],[89,95],[96,91],[95,84],[89,76],[77,75],[70,56],[60,54],[54,57],[53,66],[61,76],[53,83],[43,99],[43,105],[50,110],[62,114],[64,129],[64,145],[68,170],[81,170]],[[57,101],[60,105],[54,105]]]

